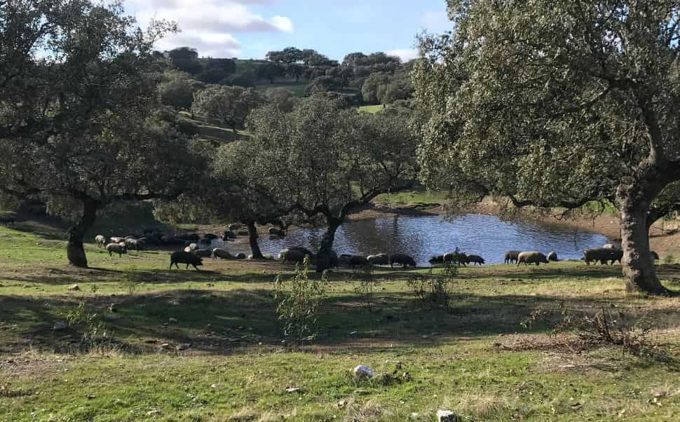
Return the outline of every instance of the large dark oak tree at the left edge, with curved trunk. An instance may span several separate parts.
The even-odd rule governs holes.
[[[174,196],[200,160],[176,122],[154,112],[160,72],[147,33],[120,2],[0,2],[0,189],[81,207],[67,256],[121,200]]]

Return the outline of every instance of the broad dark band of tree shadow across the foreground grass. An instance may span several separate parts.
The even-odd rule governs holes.
[[[55,332],[57,320],[86,303],[91,313],[104,313],[107,332],[133,353],[153,353],[163,343],[170,349],[191,344],[192,352],[212,355],[250,353],[253,346],[280,348],[280,321],[269,290],[166,290],[152,294],[116,294],[81,298],[32,298],[10,296],[0,299],[0,321],[11,330],[0,334],[6,351],[25,348],[68,350],[86,327]],[[555,297],[503,294],[497,297],[456,294],[451,309],[423,311],[409,292],[376,294],[372,311],[353,293],[334,293],[325,301],[318,318],[317,346],[342,350],[384,348],[385,344],[430,347],[435,343],[477,339],[498,334],[548,334],[559,320]],[[594,297],[569,299],[576,311],[598,311],[607,301]],[[545,322],[522,327],[537,306],[552,310]],[[113,311],[110,311],[113,309]],[[634,307],[623,313],[641,312]],[[676,308],[645,310],[657,328],[680,327]],[[2,331],[2,330],[0,330]]]

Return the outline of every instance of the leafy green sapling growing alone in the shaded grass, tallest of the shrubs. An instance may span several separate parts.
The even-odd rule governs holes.
[[[283,336],[292,344],[301,345],[317,334],[317,318],[328,289],[326,273],[319,280],[311,280],[308,266],[309,257],[306,257],[301,267],[295,267],[290,280],[283,280],[279,275],[274,283],[276,312],[283,324]]]

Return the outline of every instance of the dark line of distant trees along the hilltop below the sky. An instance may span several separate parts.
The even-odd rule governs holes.
[[[342,62],[313,49],[284,48],[270,51],[266,60],[200,58],[194,48],[180,47],[154,57],[170,67],[163,84],[163,103],[191,108],[191,98],[205,85],[241,86],[307,81],[304,95],[326,93],[347,106],[393,104],[409,101],[414,88],[410,78],[414,61],[402,63],[386,53],[350,53]],[[204,85],[201,85],[204,84]]]

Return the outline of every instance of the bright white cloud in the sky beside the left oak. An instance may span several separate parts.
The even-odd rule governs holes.
[[[159,41],[159,50],[190,46],[200,55],[236,57],[241,45],[233,34],[293,31],[289,18],[265,18],[248,7],[272,1],[276,0],[127,0],[125,6],[140,25],[151,19],[177,22],[182,33]]]

